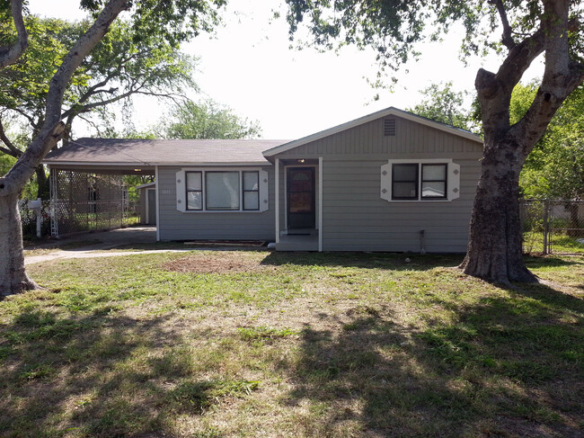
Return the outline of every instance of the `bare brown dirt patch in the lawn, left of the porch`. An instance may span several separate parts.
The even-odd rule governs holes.
[[[201,253],[187,255],[163,265],[176,273],[253,273],[266,269],[261,261],[242,256],[242,253]]]

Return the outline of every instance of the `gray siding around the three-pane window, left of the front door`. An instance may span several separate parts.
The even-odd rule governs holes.
[[[240,167],[234,168],[239,170]],[[262,167],[269,176],[270,210],[264,212],[181,212],[176,210],[176,173],[181,167],[159,167],[158,196],[161,240],[270,240],[275,238],[274,169]]]

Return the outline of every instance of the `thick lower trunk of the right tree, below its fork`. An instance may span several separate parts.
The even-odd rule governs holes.
[[[485,149],[464,272],[491,282],[535,282],[523,261],[519,172],[524,159],[509,142]]]

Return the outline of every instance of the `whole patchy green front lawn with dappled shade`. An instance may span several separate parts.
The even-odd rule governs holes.
[[[31,265],[48,289],[0,301],[0,436],[584,436],[584,256],[515,289],[409,257]]]

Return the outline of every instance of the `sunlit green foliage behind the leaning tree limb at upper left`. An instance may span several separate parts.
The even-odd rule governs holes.
[[[73,41],[90,25],[89,22],[66,22],[56,19],[27,17],[29,49],[15,64],[0,71],[0,117],[13,113],[27,121],[31,137],[44,121],[44,106],[50,78],[57,71]],[[5,31],[7,25],[2,25]],[[4,33],[4,32],[3,32]],[[71,137],[75,118],[97,123],[98,111],[112,103],[128,103],[138,94],[159,98],[178,98],[192,81],[193,59],[183,55],[164,40],[142,38],[134,42],[128,22],[111,26],[108,34],[75,70],[64,96],[61,114],[66,122],[66,138]],[[128,109],[128,105],[126,109]],[[9,146],[8,146],[9,147]],[[20,156],[12,150],[13,156]]]

